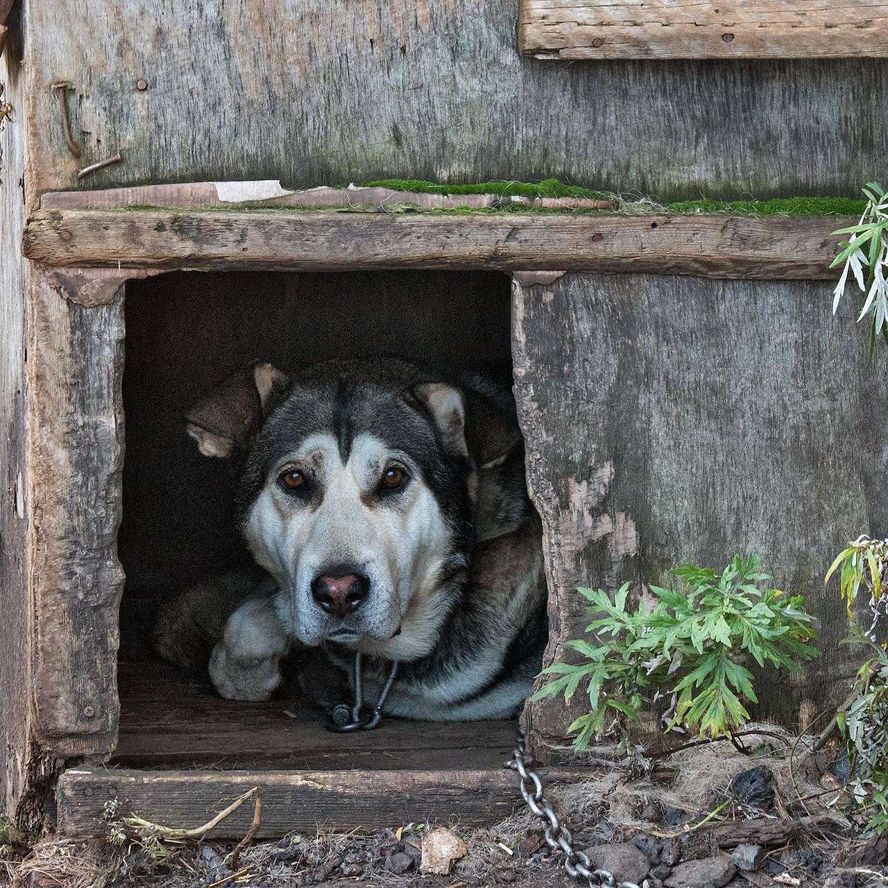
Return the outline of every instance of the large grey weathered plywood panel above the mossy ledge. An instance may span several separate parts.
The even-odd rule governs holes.
[[[519,55],[517,10],[158,0],[147,13],[93,0],[71,14],[32,0],[31,194],[78,187],[56,80],[72,84],[83,164],[123,155],[90,188],[556,176],[663,199],[850,195],[888,155],[877,59],[552,65]]]

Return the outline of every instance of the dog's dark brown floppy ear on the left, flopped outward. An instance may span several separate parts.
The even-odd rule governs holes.
[[[187,432],[203,456],[233,456],[258,432],[274,396],[287,385],[287,374],[271,364],[235,373],[188,411]]]

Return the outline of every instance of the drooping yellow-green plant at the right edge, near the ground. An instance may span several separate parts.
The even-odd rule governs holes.
[[[848,610],[852,636],[845,643],[867,648],[867,659],[854,680],[852,694],[836,712],[836,725],[848,753],[852,807],[867,817],[867,829],[878,835],[888,829],[888,654],[878,644],[876,627],[888,613],[888,540],[859,536],[839,552],[829,578],[839,572],[839,591]],[[866,599],[868,628],[854,614]]]

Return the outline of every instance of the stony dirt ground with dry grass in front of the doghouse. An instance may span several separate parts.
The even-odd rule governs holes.
[[[772,725],[729,743],[692,746],[639,773],[599,749],[595,776],[547,787],[553,807],[618,878],[647,888],[888,886],[888,836],[862,835],[842,812],[835,752],[808,754],[808,739]],[[737,849],[738,825],[749,841]],[[423,852],[437,846],[430,824],[386,825],[365,834],[291,835],[274,842],[182,843],[114,824],[111,840],[39,841],[7,830],[0,883],[13,888],[281,888],[364,884],[380,888],[575,885],[550,851],[539,821],[518,809],[488,829],[445,824],[460,854],[447,876],[424,875]],[[760,839],[757,840],[756,836]],[[0,833],[0,838],[3,834]],[[234,852],[234,853],[233,853]],[[464,853],[463,853],[464,852]],[[461,856],[460,856],[461,855]],[[743,868],[746,867],[746,868]]]

